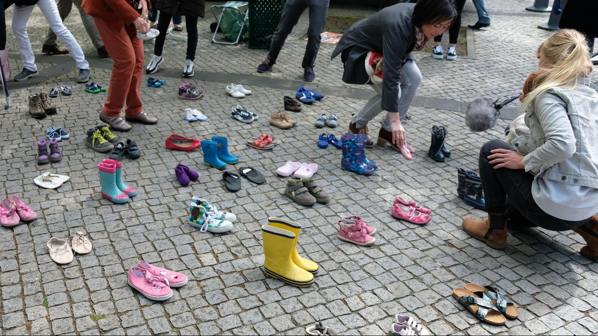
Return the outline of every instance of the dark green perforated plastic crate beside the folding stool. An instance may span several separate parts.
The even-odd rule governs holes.
[[[260,38],[274,33],[284,6],[285,0],[249,0],[249,48],[268,48]]]

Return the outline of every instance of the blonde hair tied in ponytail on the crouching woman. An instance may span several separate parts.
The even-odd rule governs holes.
[[[533,79],[533,90],[527,93],[521,109],[533,107],[534,100],[553,87],[573,90],[579,77],[588,77],[593,69],[590,49],[585,37],[577,30],[562,29],[544,41],[536,56],[544,55],[548,65]]]

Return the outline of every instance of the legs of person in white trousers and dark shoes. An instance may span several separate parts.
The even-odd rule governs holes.
[[[45,19],[48,21],[50,28],[56,33],[57,36],[62,40],[67,48],[71,50],[73,59],[77,62],[77,69],[79,75],[77,76],[77,83],[85,83],[89,81],[91,71],[89,69],[89,63],[85,60],[85,55],[81,46],[78,44],[75,37],[66,29],[60,19],[60,13],[54,0],[38,0],[37,5],[44,14]],[[29,41],[29,35],[27,34],[27,22],[29,16],[33,11],[34,6],[17,7],[14,6],[13,12],[13,32],[17,38],[17,45],[21,52],[21,60],[23,62],[23,71],[14,77],[15,81],[24,81],[28,78],[37,77],[38,71],[35,65],[35,55],[31,49],[31,42]]]

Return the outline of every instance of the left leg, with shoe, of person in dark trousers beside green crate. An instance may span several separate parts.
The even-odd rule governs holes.
[[[268,52],[268,56],[266,57],[266,65],[262,63],[258,67],[258,72],[266,72],[271,69],[274,64],[276,64],[276,59],[278,58],[278,54],[280,53],[280,49],[285,44],[286,37],[289,36],[293,27],[297,25],[301,14],[307,7],[307,0],[289,0],[285,3],[285,7],[282,9],[282,14],[280,15],[280,21],[278,22],[278,26],[276,27],[276,31],[274,31],[274,35],[272,36],[272,41],[270,42],[270,51]]]

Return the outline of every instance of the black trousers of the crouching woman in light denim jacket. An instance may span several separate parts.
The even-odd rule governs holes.
[[[538,226],[551,231],[572,230],[590,220],[588,218],[583,221],[565,221],[545,213],[533,199],[534,176],[531,173],[527,173],[524,169],[494,169],[495,164],[489,163],[491,160],[488,157],[492,155],[490,151],[499,148],[515,150],[507,142],[499,139],[484,143],[480,149],[480,178],[487,212],[504,213],[508,210],[511,217],[509,227],[523,221],[521,225],[523,227]]]

